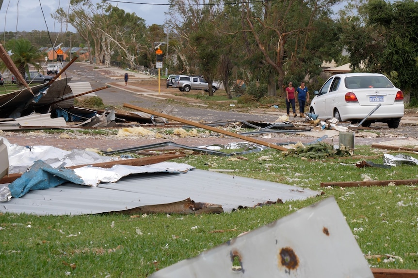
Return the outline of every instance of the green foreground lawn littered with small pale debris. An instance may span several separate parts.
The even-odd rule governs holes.
[[[147,277],[307,205],[334,196],[371,267],[418,269],[418,190],[414,185],[321,188],[321,182],[417,179],[418,165],[357,168],[383,163],[386,151],[356,146],[352,157],[308,160],[269,149],[248,160],[212,155],[177,159],[199,169],[238,169],[323,195],[305,201],[216,215],[32,216],[0,215],[0,273],[5,277]],[[407,154],[411,155],[411,154]],[[412,154],[414,158],[417,155]],[[187,196],[185,196],[187,197]],[[389,259],[392,255],[399,258]],[[376,256],[374,256],[376,255]],[[389,260],[386,260],[389,259]]]

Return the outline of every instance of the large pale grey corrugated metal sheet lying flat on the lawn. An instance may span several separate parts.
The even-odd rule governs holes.
[[[167,204],[191,198],[222,205],[225,212],[239,207],[300,200],[320,192],[253,178],[194,169],[183,174],[140,174],[90,188],[72,183],[33,190],[3,202],[1,212],[35,215],[79,215]]]

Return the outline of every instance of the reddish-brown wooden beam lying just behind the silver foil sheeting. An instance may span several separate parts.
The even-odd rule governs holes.
[[[144,166],[149,164],[155,164],[162,161],[167,161],[170,159],[180,158],[186,156],[185,154],[163,154],[152,157],[145,158],[134,158],[134,159],[125,159],[125,160],[116,160],[116,161],[107,161],[94,164],[83,164],[83,165],[74,165],[70,167],[64,167],[66,169],[76,169],[84,166],[93,166],[93,167],[102,167],[102,168],[111,168],[114,165],[131,165],[131,166]],[[0,179],[0,184],[11,183],[22,176],[22,173],[10,174],[8,176],[3,176]]]

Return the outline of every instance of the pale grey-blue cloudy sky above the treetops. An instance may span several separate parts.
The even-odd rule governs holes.
[[[3,0],[3,5],[0,10],[0,32],[3,31],[32,31],[32,30],[48,30],[50,32],[65,31],[66,26],[61,26],[61,23],[54,22],[51,18],[58,8],[63,8],[68,11],[68,3],[70,0]],[[168,5],[146,5],[152,4],[167,4],[167,0],[121,0],[130,3],[118,3],[109,1],[112,6],[117,6],[127,13],[135,13],[135,15],[143,18],[145,24],[150,26],[152,24],[164,23],[164,12],[168,10]],[[100,0],[92,0],[92,2],[101,2]],[[133,4],[143,3],[143,4]],[[41,9],[42,5],[42,9]],[[42,15],[42,10],[45,15]],[[75,31],[71,26],[68,26],[69,31]]]

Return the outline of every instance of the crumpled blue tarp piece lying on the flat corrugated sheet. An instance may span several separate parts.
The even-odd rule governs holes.
[[[48,189],[67,181],[84,185],[84,181],[76,175],[74,170],[52,168],[44,161],[37,160],[28,172],[9,184],[9,189],[13,198],[19,198],[29,190]]]

